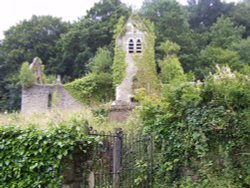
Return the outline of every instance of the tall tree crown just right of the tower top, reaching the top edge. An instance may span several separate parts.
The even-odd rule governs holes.
[[[188,16],[177,1],[145,0],[141,13],[155,24],[158,44],[166,40],[181,43],[181,37],[188,30]]]

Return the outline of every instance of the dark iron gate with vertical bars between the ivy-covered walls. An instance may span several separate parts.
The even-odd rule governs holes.
[[[124,134],[121,128],[112,132],[89,129],[99,139],[92,167],[97,188],[153,187],[153,138]]]

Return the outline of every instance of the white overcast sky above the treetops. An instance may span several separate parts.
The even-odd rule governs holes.
[[[143,0],[121,0],[123,3],[140,8]],[[186,0],[179,0],[185,3]],[[227,0],[233,1],[233,0]],[[1,0],[0,39],[3,31],[32,15],[52,15],[64,21],[74,21],[85,15],[86,10],[99,0]]]

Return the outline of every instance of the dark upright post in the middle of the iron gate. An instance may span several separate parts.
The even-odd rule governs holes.
[[[113,188],[120,187],[120,168],[122,152],[122,129],[115,129],[113,146]]]

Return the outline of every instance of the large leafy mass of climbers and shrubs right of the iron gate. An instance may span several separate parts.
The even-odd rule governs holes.
[[[153,133],[159,187],[248,187],[249,78],[217,67],[204,83],[172,82],[143,97],[144,134]]]

